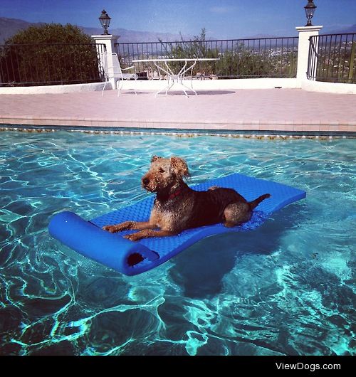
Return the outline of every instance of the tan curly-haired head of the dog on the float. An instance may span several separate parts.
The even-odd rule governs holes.
[[[176,156],[169,159],[153,156],[150,170],[142,177],[142,186],[151,192],[167,191],[179,185],[187,176],[189,170],[184,159]]]

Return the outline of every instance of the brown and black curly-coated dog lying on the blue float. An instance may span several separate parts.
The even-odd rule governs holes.
[[[150,220],[125,221],[105,225],[103,229],[110,233],[140,230],[125,235],[125,238],[137,241],[142,238],[177,235],[186,229],[216,223],[223,223],[230,228],[249,221],[253,209],[271,196],[265,193],[248,202],[232,188],[213,186],[207,191],[194,191],[184,181],[188,176],[189,170],[184,159],[176,156],[169,159],[153,156],[150,170],[141,180],[143,188],[156,193]]]

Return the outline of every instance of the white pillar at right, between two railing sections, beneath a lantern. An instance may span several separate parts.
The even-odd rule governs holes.
[[[318,36],[323,26],[300,26],[296,28],[299,33],[298,40],[298,63],[297,63],[297,80],[306,80],[309,58],[309,38]],[[317,46],[315,46],[317,47]]]

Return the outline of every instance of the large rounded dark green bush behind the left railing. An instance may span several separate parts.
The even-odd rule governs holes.
[[[7,85],[69,84],[100,81],[98,53],[77,26],[29,26],[5,42],[0,74]]]

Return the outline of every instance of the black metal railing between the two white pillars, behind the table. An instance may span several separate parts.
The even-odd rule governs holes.
[[[194,74],[218,78],[295,78],[297,73],[298,37],[115,43],[115,47],[124,66],[139,59],[219,58],[216,62],[197,63]],[[137,71],[145,71],[150,77],[155,66],[140,63]]]

